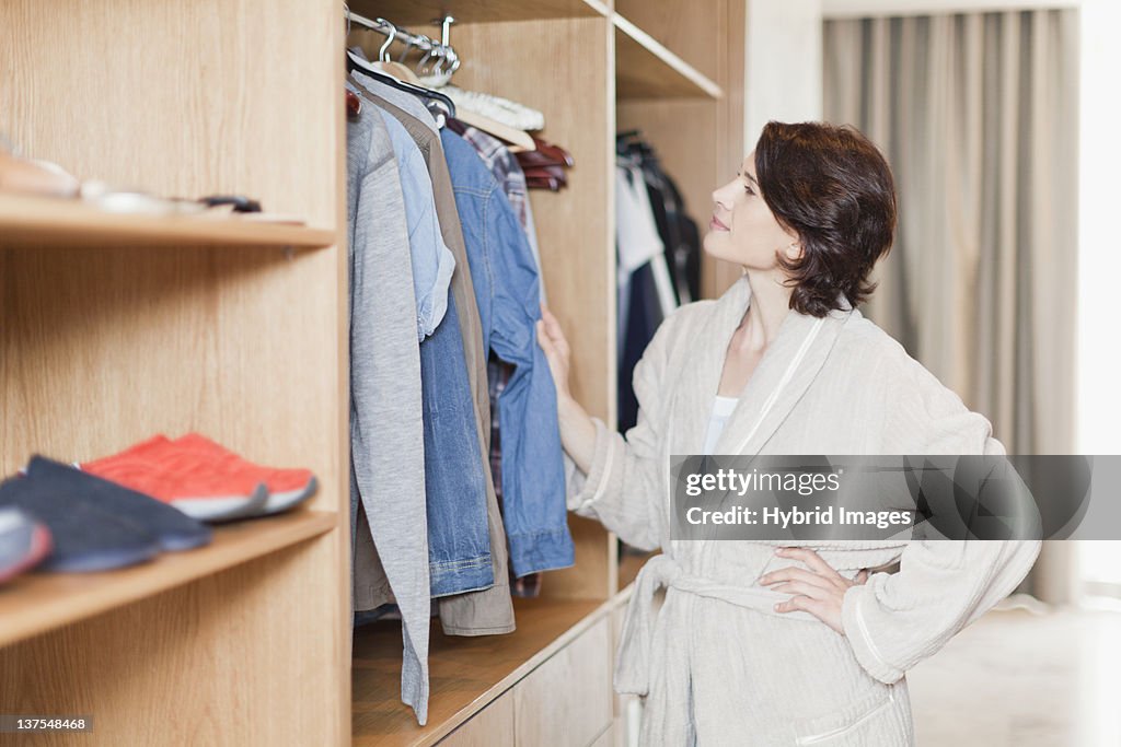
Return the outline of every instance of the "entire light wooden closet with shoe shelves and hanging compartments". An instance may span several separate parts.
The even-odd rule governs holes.
[[[539,109],[576,166],[532,193],[573,385],[615,414],[614,134],[637,128],[707,224],[743,147],[743,0],[354,0],[438,35],[455,83]],[[306,226],[106,215],[0,195],[0,468],[196,430],[304,466],[306,510],[212,545],[0,589],[0,713],[85,715],[64,745],[613,745],[626,588],[640,561],[571,515],[576,566],[517,632],[432,638],[428,726],[400,702],[400,628],[350,636],[342,6],[0,3],[0,132],[83,178],[245,194]],[[371,39],[372,43],[372,39]],[[722,287],[705,270],[708,293]],[[20,737],[0,735],[0,744]]]

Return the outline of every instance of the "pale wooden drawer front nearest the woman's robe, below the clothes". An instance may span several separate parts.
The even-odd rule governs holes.
[[[611,627],[604,618],[513,687],[518,747],[586,747],[612,720]]]

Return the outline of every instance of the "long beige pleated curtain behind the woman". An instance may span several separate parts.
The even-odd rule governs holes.
[[[1010,454],[1074,451],[1078,17],[830,20],[825,119],[888,157],[899,231],[867,314]],[[1073,543],[1020,590],[1069,599]]]

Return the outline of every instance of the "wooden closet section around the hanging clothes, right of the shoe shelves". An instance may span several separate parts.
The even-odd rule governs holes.
[[[742,119],[738,130],[736,118],[728,113],[729,100],[742,103],[742,96],[726,95],[717,83],[734,65],[713,64],[713,50],[700,44],[707,44],[731,6],[740,3],[705,0],[696,8],[684,0],[615,0],[605,9],[536,0],[424,0],[408,7],[405,0],[355,0],[350,6],[369,18],[414,24],[409,30],[423,32],[441,9],[448,10],[458,21],[452,43],[463,59],[454,83],[540,110],[541,137],[573,153],[567,189],[530,193],[543,279],[550,309],[573,346],[574,393],[590,412],[614,422],[614,136],[641,129],[671,162],[670,172],[683,175],[682,186],[704,222],[707,206],[701,199],[723,174],[717,156],[742,144]],[[679,38],[675,29],[682,19],[704,12],[710,35]],[[383,40],[368,34],[352,38],[368,54]],[[721,138],[732,144],[717,153]],[[729,161],[732,174],[742,156]],[[433,626],[424,728],[400,702],[399,623],[360,628],[352,671],[353,744],[613,745],[613,707],[601,708],[613,702],[613,631],[630,592],[623,587],[645,558],[628,555],[620,567],[614,535],[575,515],[569,527],[576,567],[546,573],[540,599],[515,600],[517,632],[462,638]]]

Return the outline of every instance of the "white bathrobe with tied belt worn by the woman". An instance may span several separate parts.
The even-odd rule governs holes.
[[[634,547],[663,550],[636,582],[615,689],[643,697],[643,747],[911,745],[905,672],[1015,589],[1040,542],[807,542],[849,579],[900,561],[898,572],[872,573],[845,592],[844,635],[808,613],[773,610],[791,595],[758,578],[802,566],[773,554],[780,542],[670,542],[669,456],[702,452],[728,344],[750,298],[744,276],[720,299],[667,318],[634,370],[638,423],[624,439],[594,419],[589,473],[567,461],[569,510]],[[821,319],[786,316],[713,452],[1004,448],[985,418],[846,305]]]

